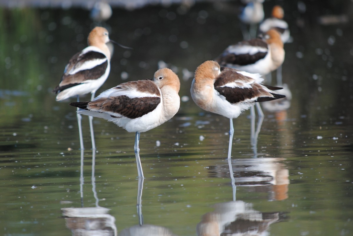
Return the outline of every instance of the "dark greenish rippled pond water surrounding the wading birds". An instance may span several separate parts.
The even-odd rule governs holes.
[[[274,1],[265,3],[269,11]],[[134,49],[114,49],[112,71],[98,92],[151,78],[163,60],[177,69],[180,96],[186,96],[173,119],[141,134],[142,188],[134,134],[94,119],[92,153],[83,117],[81,156],[76,110],[51,93],[67,60],[86,46],[94,25],[88,11],[1,9],[0,232],[71,235],[85,218],[62,217],[61,208],[83,206],[101,211],[86,216],[86,226],[105,222],[113,235],[114,227],[118,235],[197,235],[223,226],[239,235],[352,235],[353,35],[350,23],[317,23],[324,14],[349,13],[352,3],[331,7],[327,1],[305,13],[297,3],[283,4],[293,36],[285,45],[283,82],[292,99],[285,110],[263,104],[255,141],[249,111],[233,121],[231,165],[229,120],[190,100],[192,75],[183,78],[183,69],[195,71],[241,40],[234,14],[239,4],[113,10],[104,23],[110,38]],[[143,227],[137,226],[138,194]],[[110,209],[110,216],[97,206]]]

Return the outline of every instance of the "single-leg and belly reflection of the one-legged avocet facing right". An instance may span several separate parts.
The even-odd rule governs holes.
[[[143,216],[142,216],[143,180],[144,180],[143,178],[138,178],[136,207],[137,207],[139,224],[122,230],[119,236],[177,236],[165,227],[143,223]]]

